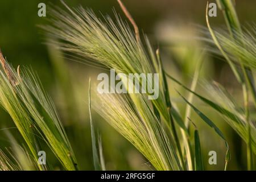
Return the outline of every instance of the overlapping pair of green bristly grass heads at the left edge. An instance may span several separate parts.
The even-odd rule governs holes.
[[[76,159],[55,106],[42,90],[34,73],[14,71],[0,55],[0,104],[10,114],[28,144],[34,160],[38,160],[39,139],[48,144],[63,167],[75,170]],[[39,135],[39,137],[38,137]],[[43,169],[42,165],[38,165]]]

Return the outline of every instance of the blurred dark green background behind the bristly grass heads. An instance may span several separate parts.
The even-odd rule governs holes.
[[[7,60],[16,68],[18,65],[31,67],[38,73],[46,91],[53,98],[60,117],[67,129],[68,137],[75,150],[81,169],[93,169],[92,147],[90,142],[90,128],[88,118],[88,80],[96,82],[100,69],[90,67],[75,61],[64,59],[64,55],[57,50],[47,47],[46,36],[38,27],[47,24],[49,16],[38,16],[38,4],[61,6],[60,1],[38,0],[2,0],[0,1],[0,48]],[[123,16],[115,0],[66,0],[71,7],[82,5],[93,9],[97,14],[113,16],[113,8]],[[205,6],[203,0],[123,0],[127,9],[133,15],[139,28],[148,35],[153,46],[160,47],[167,70],[186,84],[189,84],[195,68],[197,55],[204,48],[204,44],[195,38],[198,36],[196,25],[206,26]],[[251,23],[255,20],[256,1],[238,0],[237,13],[241,23]],[[125,18],[123,16],[123,18]],[[212,26],[225,26],[221,12],[218,10],[216,18],[210,18]],[[185,36],[184,36],[185,35]],[[199,46],[200,45],[200,46]],[[200,47],[199,49],[195,47]],[[195,59],[188,59],[187,57]],[[194,62],[193,62],[194,60]],[[205,55],[202,79],[216,80],[224,86],[236,90],[237,83],[233,82],[233,75],[224,61],[209,54]],[[170,89],[177,85],[170,84]],[[184,109],[175,92],[174,101]],[[93,98],[92,98],[93,99]],[[75,106],[75,107],[74,107]],[[231,146],[232,162],[229,169],[245,169],[245,151],[241,148],[245,144],[217,113],[204,107],[217,125],[224,131]],[[116,133],[102,118],[93,113],[97,128],[102,136],[104,155],[107,169],[151,169],[151,166],[141,154],[125,139]],[[194,116],[195,117],[195,116]],[[196,118],[196,117],[195,117]],[[10,146],[3,128],[13,127],[9,115],[0,110],[0,147]],[[205,166],[210,170],[224,168],[224,142],[205,125],[200,125],[202,147],[204,148]],[[10,129],[11,133],[20,139],[18,130]],[[208,164],[208,152],[217,151],[217,165]],[[49,152],[50,153],[50,152]],[[52,154],[47,159],[58,166]],[[56,169],[59,169],[56,167]]]

